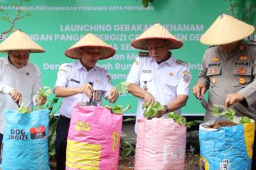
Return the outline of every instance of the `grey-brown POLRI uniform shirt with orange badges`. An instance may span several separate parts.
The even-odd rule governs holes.
[[[240,93],[245,96],[246,104],[235,103],[233,108],[238,116],[247,115],[256,120],[256,47],[241,41],[231,55],[220,46],[210,47],[203,56],[202,69],[198,82],[208,88],[210,111],[205,120],[214,118],[213,105],[225,106],[228,94]],[[248,105],[248,106],[247,106]]]

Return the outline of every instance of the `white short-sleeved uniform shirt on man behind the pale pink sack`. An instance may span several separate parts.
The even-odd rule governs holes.
[[[177,95],[188,96],[190,80],[187,64],[171,55],[169,60],[161,64],[157,64],[151,57],[137,57],[126,81],[149,91],[155,101],[165,105],[174,101]],[[137,118],[144,117],[143,103],[144,98],[139,98]]]

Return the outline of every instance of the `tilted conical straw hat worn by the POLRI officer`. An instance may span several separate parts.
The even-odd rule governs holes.
[[[254,32],[254,26],[221,14],[200,39],[205,45],[225,45],[242,40]]]

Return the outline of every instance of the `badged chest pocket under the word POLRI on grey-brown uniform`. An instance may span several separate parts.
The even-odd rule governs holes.
[[[232,73],[235,76],[233,81],[234,87],[245,87],[253,81],[252,67],[234,66]]]

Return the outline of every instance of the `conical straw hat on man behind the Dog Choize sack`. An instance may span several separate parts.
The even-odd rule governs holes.
[[[9,37],[0,44],[0,52],[8,52],[11,50],[29,50],[30,52],[46,51],[19,29],[9,35]]]

